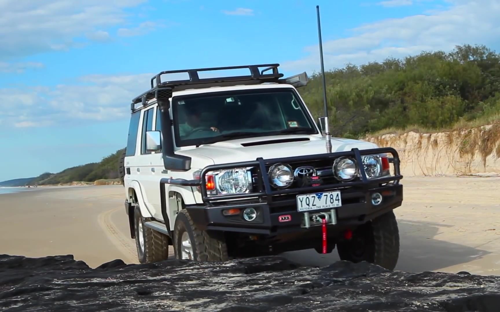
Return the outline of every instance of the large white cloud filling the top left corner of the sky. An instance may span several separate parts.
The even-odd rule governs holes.
[[[107,39],[106,27],[133,21],[126,12],[147,0],[1,0],[0,59],[78,46],[75,38]]]

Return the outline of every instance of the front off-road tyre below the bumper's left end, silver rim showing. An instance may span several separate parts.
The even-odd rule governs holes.
[[[173,251],[175,259],[181,259],[182,234],[187,232],[192,246],[191,259],[198,262],[223,262],[229,260],[227,245],[220,232],[207,233],[199,230],[189,213],[181,210],[175,218],[173,230]]]

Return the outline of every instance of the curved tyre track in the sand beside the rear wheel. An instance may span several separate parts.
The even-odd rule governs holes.
[[[135,245],[132,245],[129,240],[121,234],[111,221],[111,215],[120,210],[114,208],[100,213],[97,217],[99,226],[106,232],[106,236],[111,243],[123,254],[125,263],[137,263],[137,251]]]

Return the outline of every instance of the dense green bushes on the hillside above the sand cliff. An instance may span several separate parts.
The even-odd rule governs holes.
[[[331,132],[361,137],[395,130],[439,131],[500,120],[500,54],[463,45],[325,72]],[[323,115],[321,76],[300,94]]]

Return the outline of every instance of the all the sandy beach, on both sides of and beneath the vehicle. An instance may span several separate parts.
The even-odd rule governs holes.
[[[500,275],[500,178],[405,177],[401,183],[396,270]],[[122,203],[121,185],[1,194],[0,254],[72,254],[90,267],[114,259],[138,263]],[[335,250],[283,255],[304,265],[338,260]]]

